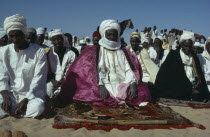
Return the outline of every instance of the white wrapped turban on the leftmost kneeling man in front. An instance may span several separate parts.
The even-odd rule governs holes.
[[[4,30],[7,34],[9,34],[11,30],[21,30],[26,35],[27,34],[26,19],[19,14],[7,17],[4,20]]]

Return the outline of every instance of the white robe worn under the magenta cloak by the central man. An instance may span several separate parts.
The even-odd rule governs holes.
[[[111,51],[101,46],[98,71],[99,85],[105,85],[110,95],[118,99],[121,96],[120,92],[122,92],[122,88],[119,90],[120,87],[137,82],[121,50]]]

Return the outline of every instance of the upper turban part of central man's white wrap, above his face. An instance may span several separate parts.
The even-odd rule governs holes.
[[[120,36],[121,28],[120,24],[116,20],[108,19],[102,21],[100,27],[99,27],[99,32],[101,36],[105,36],[105,32],[109,29],[115,29],[118,31],[118,36]]]

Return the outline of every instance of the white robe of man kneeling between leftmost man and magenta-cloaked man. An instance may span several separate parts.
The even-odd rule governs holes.
[[[68,71],[69,67],[72,65],[72,63],[76,59],[76,55],[73,51],[66,48],[66,52],[64,54],[62,65],[61,65],[59,57],[57,53],[55,53],[54,47],[53,47],[50,50],[48,59],[49,59],[51,72],[55,74],[55,80],[60,81],[65,77],[66,72]],[[60,93],[60,87],[56,91],[53,91],[52,82],[47,83],[47,95],[49,97],[53,97],[54,95],[56,96],[59,93]]]

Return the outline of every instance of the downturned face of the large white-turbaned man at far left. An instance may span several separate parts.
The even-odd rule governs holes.
[[[25,35],[20,30],[11,30],[9,32],[9,39],[15,45],[21,45],[25,41]]]

